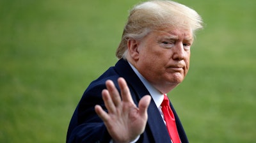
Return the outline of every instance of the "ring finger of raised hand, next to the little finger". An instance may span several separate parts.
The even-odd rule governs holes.
[[[106,106],[106,108],[108,109],[108,112],[114,113],[116,110],[116,107],[112,101],[112,98],[109,95],[109,91],[107,89],[103,89],[102,90],[102,99],[104,101],[104,105]]]

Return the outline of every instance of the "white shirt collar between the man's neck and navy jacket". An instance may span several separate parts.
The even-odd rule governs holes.
[[[154,102],[156,103],[157,108],[159,108],[160,105],[161,105],[161,103],[162,103],[163,100],[164,100],[163,94],[160,93],[159,91],[157,91],[157,89],[156,89],[154,86],[152,86],[152,85],[150,84],[150,82],[148,82],[148,80],[145,79],[145,78],[140,74],[140,72],[138,72],[138,70],[137,70],[134,66],[132,66],[131,63],[129,63],[129,64],[130,64],[132,70],[136,73],[136,75],[138,75],[138,77],[139,77],[139,79],[141,80],[141,82],[143,82],[144,86],[147,88],[148,92],[150,93],[150,95],[152,96]]]

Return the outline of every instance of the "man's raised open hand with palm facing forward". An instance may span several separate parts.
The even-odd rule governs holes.
[[[102,91],[105,112],[100,105],[95,105],[95,112],[104,121],[114,142],[131,142],[144,132],[148,119],[147,109],[151,97],[141,98],[138,107],[134,104],[129,87],[121,77],[118,79],[121,96],[111,80],[106,81],[107,89]]]

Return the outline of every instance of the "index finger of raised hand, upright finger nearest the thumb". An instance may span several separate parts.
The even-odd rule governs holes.
[[[131,102],[134,103],[132,100],[132,96],[129,90],[129,87],[126,84],[126,81],[124,78],[120,77],[118,79],[118,85],[120,87],[121,90],[121,96],[122,96],[122,100],[123,102]]]

